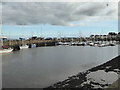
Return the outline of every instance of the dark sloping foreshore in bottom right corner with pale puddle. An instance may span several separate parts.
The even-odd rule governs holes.
[[[68,79],[57,82],[45,89],[79,88],[80,90],[109,90],[108,88],[111,87],[111,85],[118,80],[119,74],[120,55],[102,65],[93,67],[84,72],[80,72],[77,75],[68,77]],[[114,86],[112,86],[111,88],[113,88],[114,90],[119,90],[116,85]]]

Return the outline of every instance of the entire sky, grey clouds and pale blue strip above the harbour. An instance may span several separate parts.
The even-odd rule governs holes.
[[[1,34],[79,37],[118,32],[117,2],[3,2]]]

